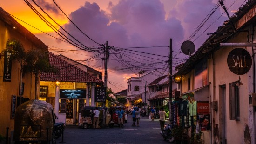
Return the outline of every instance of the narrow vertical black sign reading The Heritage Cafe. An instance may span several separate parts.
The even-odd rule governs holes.
[[[12,59],[13,53],[12,52],[5,52],[5,59],[4,59],[4,82],[11,81],[11,74],[12,74]]]

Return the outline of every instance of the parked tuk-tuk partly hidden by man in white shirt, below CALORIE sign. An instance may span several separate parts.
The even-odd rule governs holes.
[[[81,110],[81,118],[79,121],[79,126],[87,129],[93,125],[93,112],[95,110],[95,106],[85,106]],[[107,107],[98,107],[100,111],[99,116],[99,126],[105,127],[109,126],[110,128],[114,127],[114,123],[111,121],[111,116]]]

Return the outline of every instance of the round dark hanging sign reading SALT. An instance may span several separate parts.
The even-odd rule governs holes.
[[[247,73],[252,64],[250,53],[243,48],[236,48],[229,52],[228,66],[231,72],[237,75]]]

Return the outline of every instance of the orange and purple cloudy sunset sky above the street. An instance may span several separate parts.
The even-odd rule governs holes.
[[[45,18],[40,6],[63,29],[47,18],[61,33],[77,40],[81,50],[55,33],[26,4],[28,1]],[[35,3],[34,3],[35,2]],[[108,87],[127,89],[127,79],[141,70],[168,73],[169,39],[172,39],[173,67],[185,62],[181,45],[191,40],[195,49],[228,20],[218,0],[0,0],[10,13],[48,47],[104,74],[102,44],[111,46]],[[80,29],[61,12],[74,22]],[[230,16],[247,0],[224,0]],[[33,26],[33,27],[32,27]],[[34,28],[35,27],[35,28]],[[38,30],[39,29],[39,30]],[[65,32],[66,31],[66,32]],[[69,35],[67,34],[69,33]],[[60,40],[61,39],[61,40]],[[100,45],[99,45],[100,44]]]

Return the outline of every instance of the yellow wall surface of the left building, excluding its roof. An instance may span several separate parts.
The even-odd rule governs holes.
[[[30,39],[21,33],[17,32],[17,29],[6,25],[0,20],[0,52],[6,48],[6,42],[8,39],[16,39],[20,41],[25,50],[31,49],[34,44]],[[12,95],[19,96],[19,83],[20,83],[20,66],[16,60],[12,62],[11,82],[3,82],[3,66],[4,56],[0,57],[0,135],[6,136],[6,129],[9,128],[9,136],[11,131],[14,130],[14,119],[11,119],[11,100]],[[22,78],[24,86],[24,98],[34,99],[35,92],[35,79],[30,73],[25,74]],[[39,86],[39,85],[38,85]],[[39,92],[39,91],[38,91]]]

